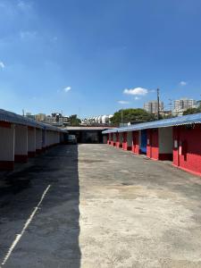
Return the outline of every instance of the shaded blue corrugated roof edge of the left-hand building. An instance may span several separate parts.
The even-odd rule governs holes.
[[[3,109],[0,109],[0,121],[7,121],[7,122],[15,123],[15,124],[21,124],[21,125],[44,129],[44,130],[57,130],[57,131],[59,130],[63,132],[63,130],[53,127],[51,125],[47,125],[38,121],[34,121],[32,119],[29,119],[28,117],[21,116],[20,114],[17,114],[17,113],[5,111]]]

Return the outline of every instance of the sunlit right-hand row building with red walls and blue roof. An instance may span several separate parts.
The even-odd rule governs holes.
[[[155,161],[172,161],[172,165],[201,176],[201,113],[105,130],[103,134],[107,144],[115,143]]]

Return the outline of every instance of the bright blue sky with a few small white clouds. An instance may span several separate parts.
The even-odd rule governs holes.
[[[201,94],[200,0],[0,0],[0,107],[81,117]],[[168,105],[166,105],[168,108]]]

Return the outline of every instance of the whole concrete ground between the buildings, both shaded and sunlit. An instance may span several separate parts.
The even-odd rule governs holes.
[[[201,178],[106,145],[54,147],[2,176],[4,267],[201,267]]]

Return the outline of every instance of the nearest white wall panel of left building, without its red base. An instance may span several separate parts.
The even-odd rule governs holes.
[[[0,127],[0,161],[14,161],[14,125],[11,129]]]

